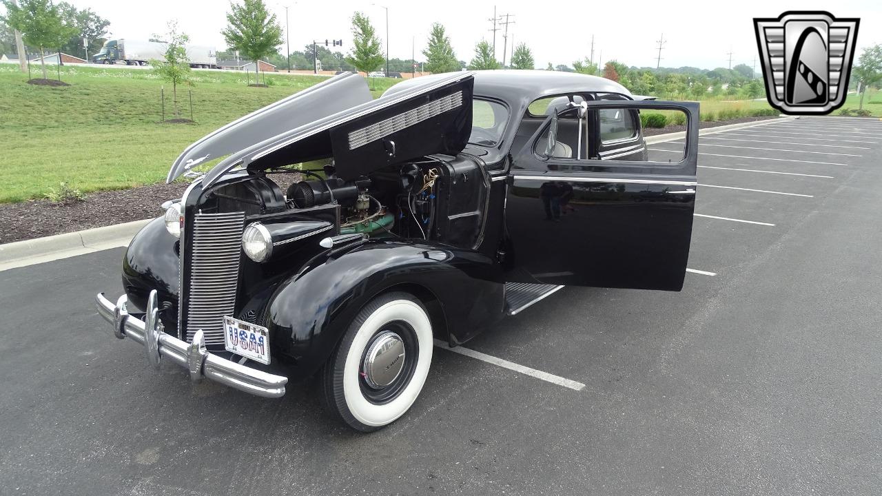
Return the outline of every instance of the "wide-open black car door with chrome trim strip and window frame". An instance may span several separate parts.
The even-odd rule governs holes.
[[[647,150],[647,110],[685,115],[682,154]],[[682,289],[698,138],[697,102],[588,101],[549,117],[508,173],[506,281]]]

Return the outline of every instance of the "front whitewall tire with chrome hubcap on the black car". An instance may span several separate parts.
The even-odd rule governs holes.
[[[422,391],[432,361],[429,313],[392,292],[366,304],[322,372],[325,405],[363,432],[392,424]]]

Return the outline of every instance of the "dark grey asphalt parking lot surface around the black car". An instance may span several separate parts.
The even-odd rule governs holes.
[[[682,292],[565,288],[467,345],[585,387],[436,349],[368,435],[309,383],[266,400],[153,372],[93,311],[123,249],[2,272],[0,493],[878,493],[882,122],[699,152]]]

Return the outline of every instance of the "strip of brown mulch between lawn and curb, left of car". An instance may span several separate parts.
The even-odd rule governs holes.
[[[52,236],[163,214],[161,203],[181,198],[187,183],[151,184],[113,192],[93,192],[67,204],[34,199],[0,204],[0,244]]]

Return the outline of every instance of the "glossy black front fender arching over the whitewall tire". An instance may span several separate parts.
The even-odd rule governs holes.
[[[274,352],[293,359],[304,375],[315,372],[364,304],[396,287],[435,299],[452,343],[503,315],[502,273],[489,257],[440,244],[372,241],[342,254],[325,252],[280,284],[265,315]]]

